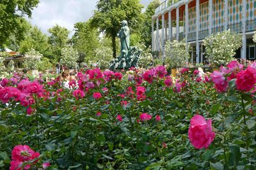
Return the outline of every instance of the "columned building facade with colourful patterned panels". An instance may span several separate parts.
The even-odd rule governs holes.
[[[184,39],[192,47],[190,62],[204,62],[204,38],[228,29],[243,35],[236,58],[256,59],[256,0],[166,0],[152,16],[152,51],[164,59],[164,43]]]

